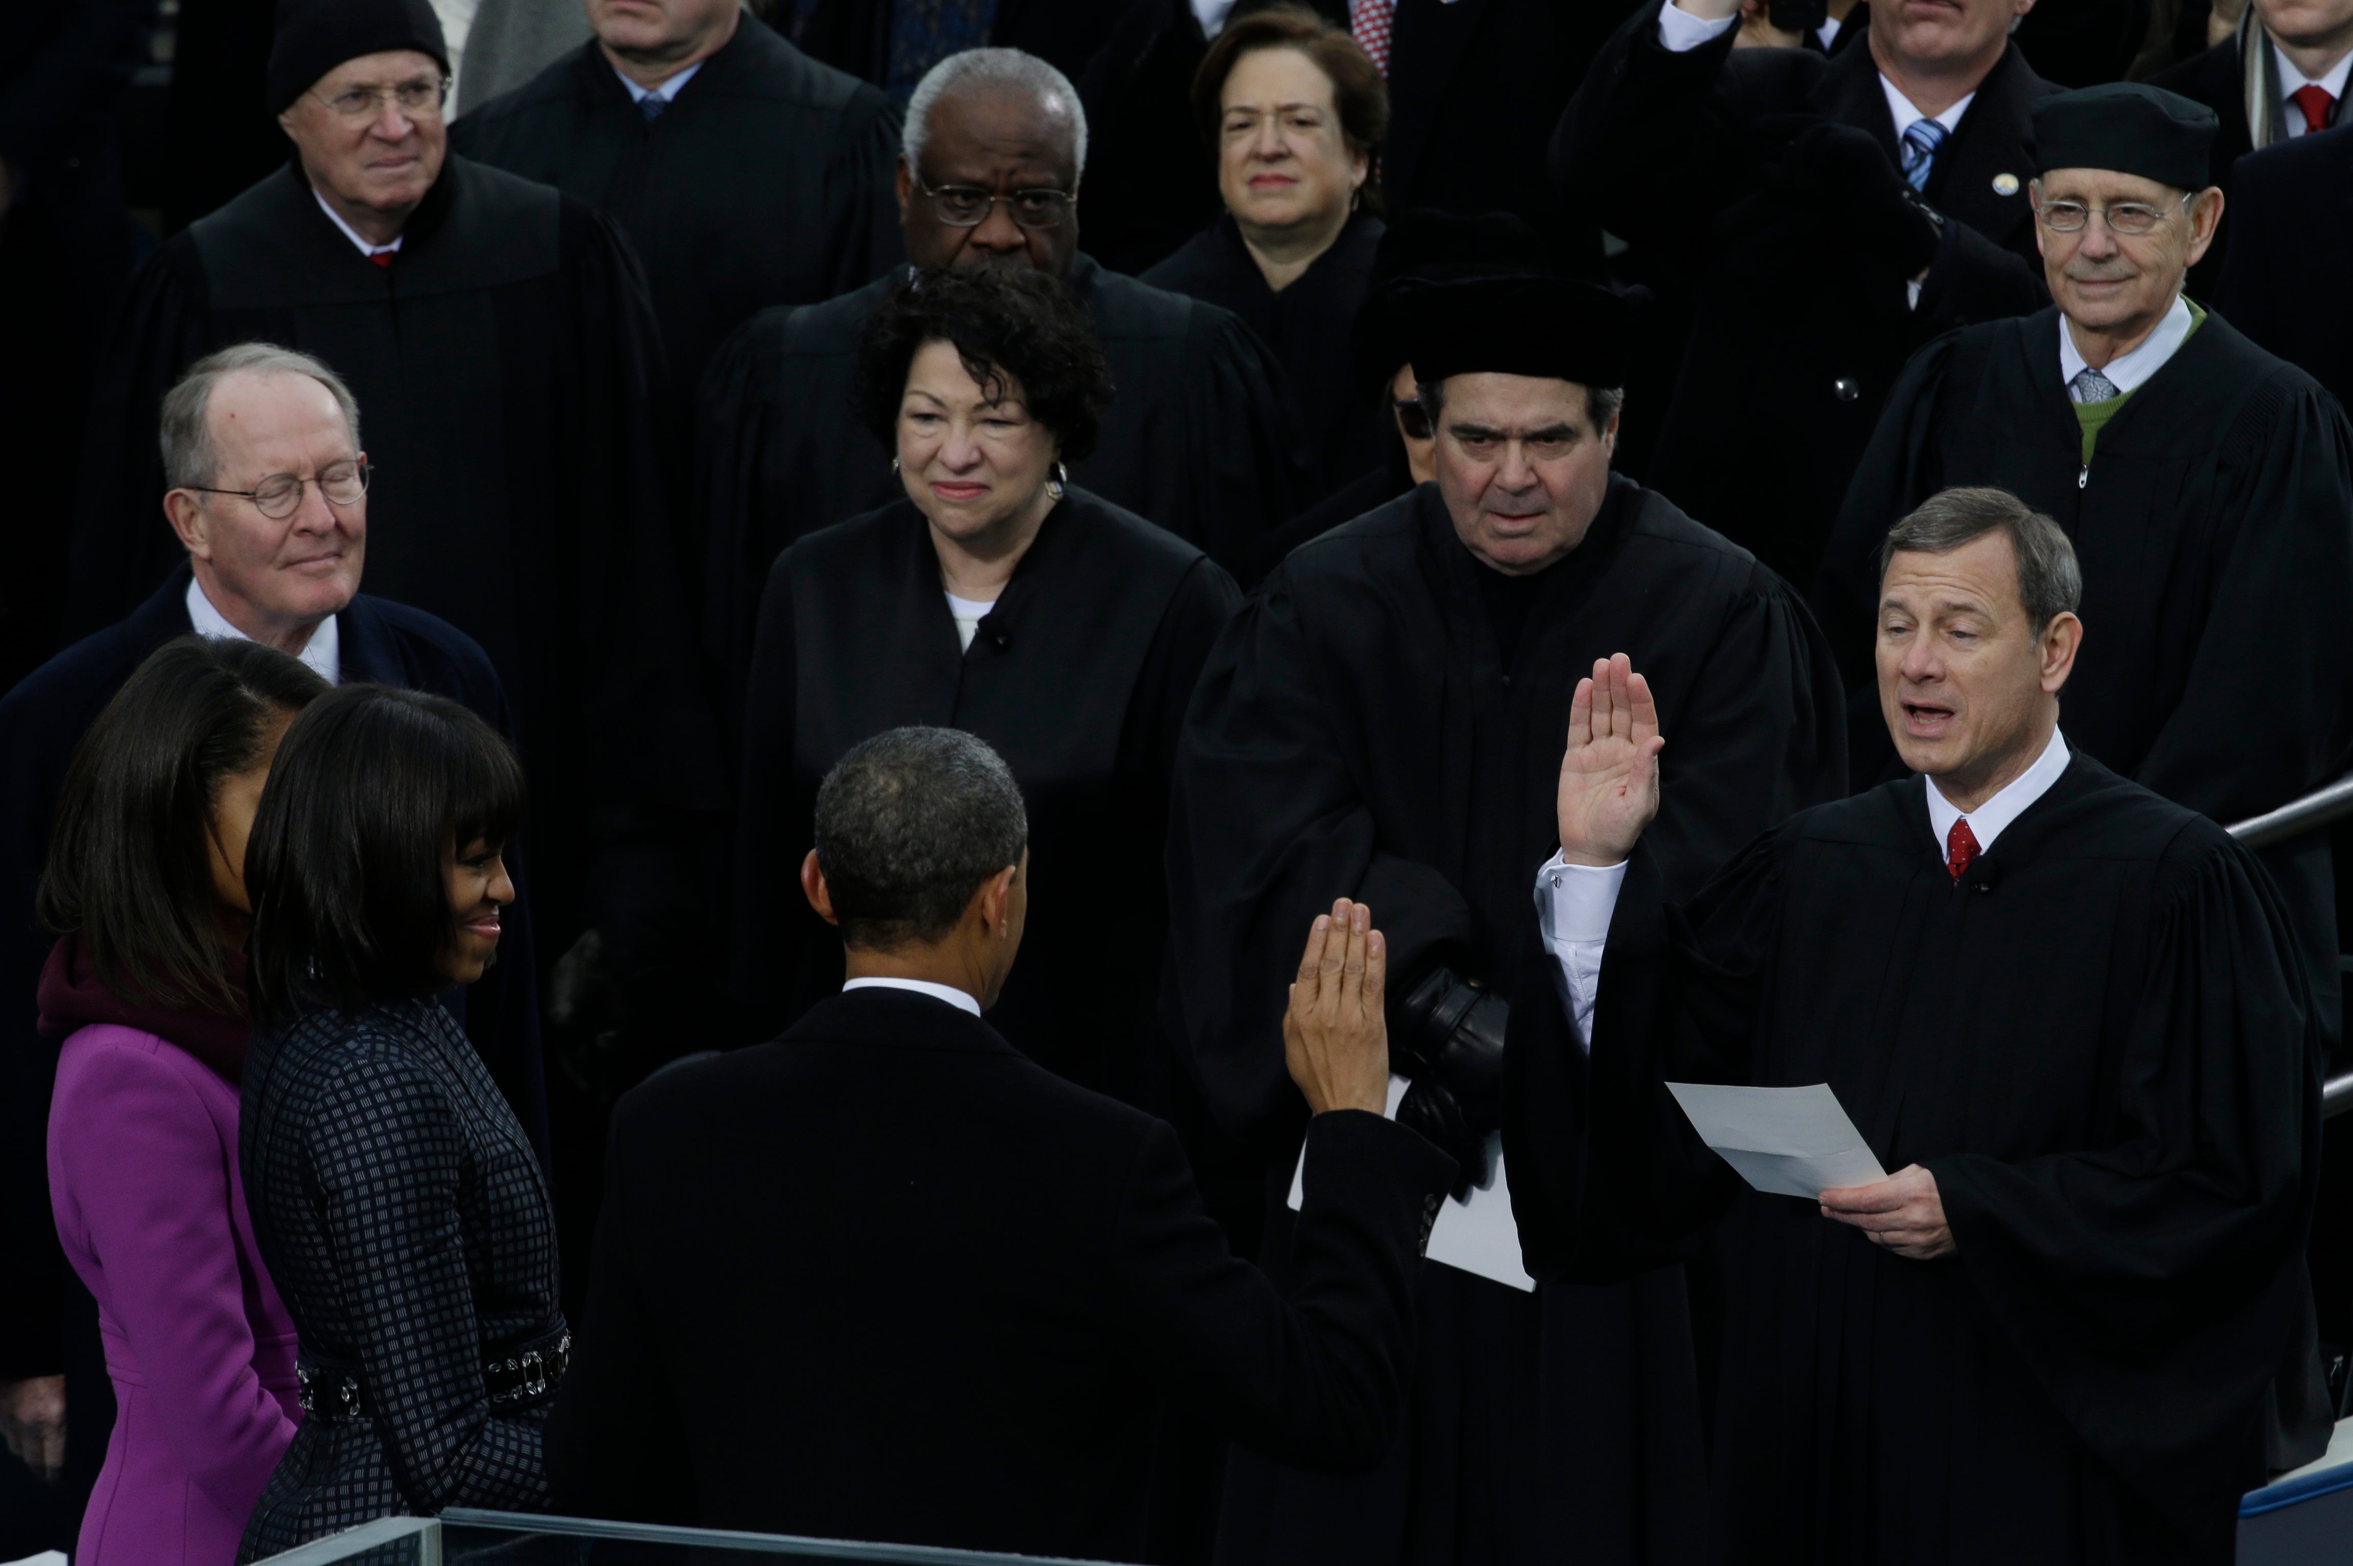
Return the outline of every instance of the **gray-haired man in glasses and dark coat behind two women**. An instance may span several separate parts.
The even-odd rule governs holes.
[[[132,615],[66,648],[0,699],[0,1427],[54,1465],[71,1509],[106,1455],[113,1389],[96,1307],[66,1272],[49,1215],[47,1121],[56,1041],[33,991],[54,933],[33,911],[49,817],[82,732],[148,652],[174,636],[240,636],[334,683],[376,681],[464,702],[513,739],[482,648],[433,615],[360,596],[367,457],[351,391],[315,358],[238,344],[188,367],[162,403],[165,513],[186,560]],[[518,911],[522,918],[518,921]],[[518,1119],[546,1147],[546,1086],[525,902],[501,966],[459,991]],[[71,1441],[52,1429],[71,1411]]]

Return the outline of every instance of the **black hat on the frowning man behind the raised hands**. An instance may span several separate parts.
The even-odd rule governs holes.
[[[1414,379],[1532,374],[1624,386],[1635,351],[1635,301],[1593,283],[1544,276],[1400,285]]]

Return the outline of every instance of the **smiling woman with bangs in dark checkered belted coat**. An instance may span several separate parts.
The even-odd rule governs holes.
[[[386,1514],[539,1509],[569,1335],[522,1126],[435,994],[513,900],[522,768],[440,697],[344,685],[289,730],[247,848],[240,1154],[308,1418],[240,1561]]]

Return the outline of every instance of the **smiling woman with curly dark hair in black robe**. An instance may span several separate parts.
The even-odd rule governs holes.
[[[871,318],[856,412],[906,497],[786,549],[760,603],[732,977],[762,1036],[842,982],[800,895],[819,779],[882,730],[962,728],[1012,765],[1033,829],[1021,970],[991,1020],[1040,1064],[1167,1109],[1167,775],[1240,596],[1071,485],[1111,393],[1087,313],[1031,268],[925,271]]]

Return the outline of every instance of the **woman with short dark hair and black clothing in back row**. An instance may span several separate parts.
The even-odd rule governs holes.
[[[1351,339],[1381,243],[1388,85],[1346,28],[1273,5],[1209,42],[1193,120],[1226,212],[1144,280],[1233,311],[1273,349],[1320,492],[1337,490],[1384,445]]]

